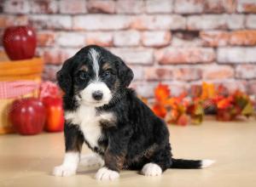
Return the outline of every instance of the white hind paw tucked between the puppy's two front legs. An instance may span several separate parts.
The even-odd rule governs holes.
[[[82,155],[80,157],[80,165],[84,167],[92,167],[92,166],[104,166],[104,161],[100,156],[97,156],[95,154],[87,154]]]

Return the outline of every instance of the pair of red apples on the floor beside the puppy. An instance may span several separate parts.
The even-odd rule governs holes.
[[[42,95],[42,94],[40,94]],[[61,132],[64,127],[61,96],[48,94],[39,98],[16,99],[9,109],[15,131],[24,135]]]

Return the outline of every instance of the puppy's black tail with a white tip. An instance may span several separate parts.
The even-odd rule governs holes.
[[[179,169],[200,169],[204,167],[209,167],[215,161],[212,160],[184,160],[172,158],[171,168]]]

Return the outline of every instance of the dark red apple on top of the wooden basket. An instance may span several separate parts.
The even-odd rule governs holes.
[[[31,26],[10,26],[3,32],[3,48],[9,59],[32,59],[37,46]]]

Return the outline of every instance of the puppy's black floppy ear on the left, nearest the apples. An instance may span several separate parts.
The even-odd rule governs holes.
[[[72,90],[72,59],[67,59],[61,67],[61,70],[57,72],[56,78],[59,86],[65,92],[69,94]]]

